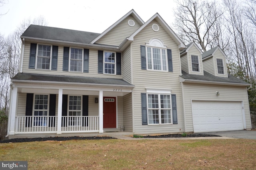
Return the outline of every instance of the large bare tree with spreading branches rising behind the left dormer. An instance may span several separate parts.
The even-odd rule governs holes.
[[[174,27],[178,36],[187,44],[196,42],[205,52],[213,41],[211,30],[223,10],[214,1],[178,0],[177,4]]]

